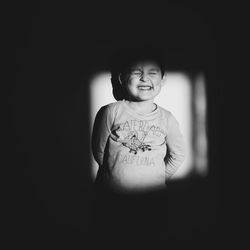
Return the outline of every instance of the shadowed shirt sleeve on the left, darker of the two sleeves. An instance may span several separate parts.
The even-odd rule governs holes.
[[[92,132],[92,153],[99,166],[103,165],[106,144],[111,133],[111,112],[109,106],[103,106],[97,112]]]

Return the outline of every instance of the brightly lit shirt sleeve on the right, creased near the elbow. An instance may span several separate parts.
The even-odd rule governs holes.
[[[173,115],[168,119],[168,133],[166,137],[167,156],[166,180],[170,179],[185,159],[184,138],[179,128],[179,123]]]

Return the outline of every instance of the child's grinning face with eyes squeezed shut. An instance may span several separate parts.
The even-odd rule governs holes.
[[[153,100],[161,91],[164,76],[152,61],[134,64],[127,74],[125,87],[130,101]]]

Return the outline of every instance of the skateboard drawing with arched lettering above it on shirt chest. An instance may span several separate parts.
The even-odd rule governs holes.
[[[165,136],[160,127],[150,125],[148,121],[138,120],[130,120],[120,124],[117,133],[122,145],[129,148],[129,153],[133,154],[137,154],[138,151],[145,152],[152,149],[152,145],[145,143],[147,136]]]

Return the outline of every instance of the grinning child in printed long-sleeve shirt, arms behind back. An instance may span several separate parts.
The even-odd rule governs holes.
[[[166,78],[161,55],[130,54],[117,72],[123,98],[99,110],[92,151],[97,180],[114,192],[145,193],[166,188],[184,161],[184,140],[173,114],[154,102]]]

